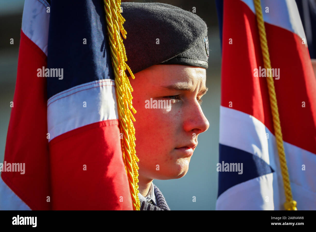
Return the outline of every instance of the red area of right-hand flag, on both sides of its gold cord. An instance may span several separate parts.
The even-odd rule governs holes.
[[[316,80],[308,50],[296,34],[265,27],[271,66],[280,68],[274,83],[283,140],[316,153]],[[233,109],[256,117],[274,134],[266,78],[254,77],[259,66],[264,68],[255,15],[241,1],[224,1],[221,104],[232,102]]]

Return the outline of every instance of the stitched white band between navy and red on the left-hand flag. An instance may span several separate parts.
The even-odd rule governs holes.
[[[75,86],[47,101],[49,141],[73,129],[110,119],[118,119],[115,82],[111,79]]]

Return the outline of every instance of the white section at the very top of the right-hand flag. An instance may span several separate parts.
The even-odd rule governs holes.
[[[256,14],[253,0],[240,1],[244,2]],[[265,13],[266,7],[269,7],[269,13]],[[261,8],[265,22],[293,32],[301,39],[306,39],[301,17],[294,0],[261,0]],[[305,45],[307,46],[307,43]]]

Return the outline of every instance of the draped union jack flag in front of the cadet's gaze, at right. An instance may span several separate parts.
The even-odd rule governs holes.
[[[286,201],[252,0],[217,1],[222,39],[217,210],[283,210]],[[295,1],[261,0],[290,187],[316,209],[316,80]],[[271,70],[272,71],[272,70]],[[270,73],[270,72],[269,72]]]

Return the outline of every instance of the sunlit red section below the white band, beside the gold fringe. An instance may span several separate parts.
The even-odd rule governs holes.
[[[133,210],[119,133],[115,119],[50,141],[53,210]]]

